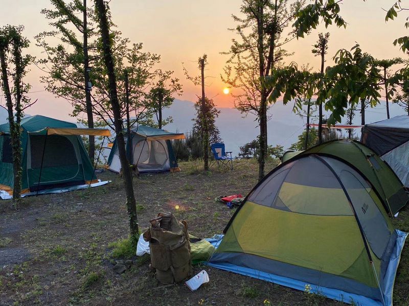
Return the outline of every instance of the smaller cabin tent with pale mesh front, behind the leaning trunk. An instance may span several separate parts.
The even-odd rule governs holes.
[[[129,143],[127,139],[125,136],[128,159],[138,166],[140,173],[180,171],[171,140],[185,139],[185,134],[138,125],[131,130]],[[113,172],[121,171],[117,139],[112,144],[107,168]]]

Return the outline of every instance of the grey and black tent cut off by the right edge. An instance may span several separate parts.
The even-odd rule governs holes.
[[[380,155],[409,188],[409,116],[366,124],[361,141]]]

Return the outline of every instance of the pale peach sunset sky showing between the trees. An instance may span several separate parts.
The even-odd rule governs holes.
[[[88,0],[92,4],[91,0]],[[307,1],[308,2],[308,1]],[[395,0],[344,0],[342,15],[348,22],[347,29],[330,27],[313,31],[307,38],[293,40],[287,45],[294,55],[286,62],[310,63],[319,67],[320,59],[313,57],[311,46],[319,32],[330,32],[328,64],[339,48],[350,49],[355,42],[365,52],[376,58],[404,57],[399,47],[393,46],[395,38],[405,35],[403,27],[405,12],[399,19],[385,23],[385,11]],[[146,51],[162,56],[159,66],[163,70],[174,70],[184,85],[184,94],[179,99],[196,99],[200,88],[186,81],[182,62],[191,74],[198,72],[197,59],[208,55],[207,95],[214,98],[220,107],[233,107],[231,96],[223,95],[225,84],[220,73],[228,56],[220,52],[228,50],[234,34],[228,28],[235,26],[232,14],[239,14],[241,0],[111,0],[113,22],[118,25],[124,37],[132,42],[143,42]],[[29,52],[41,57],[41,50],[34,44],[34,36],[48,30],[48,21],[40,14],[42,8],[50,6],[46,0],[0,0],[1,24],[23,24],[25,36],[31,40]],[[71,105],[63,99],[56,99],[43,91],[38,78],[41,72],[33,66],[26,82],[33,86],[31,97],[38,103],[27,110],[29,114],[43,114],[59,119],[69,119]],[[4,104],[4,99],[2,99]]]

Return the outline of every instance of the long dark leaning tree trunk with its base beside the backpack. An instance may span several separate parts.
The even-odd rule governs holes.
[[[125,150],[125,141],[122,127],[121,119],[121,110],[118,101],[118,92],[117,92],[117,81],[115,77],[115,71],[113,66],[113,58],[111,53],[111,41],[109,37],[109,25],[107,18],[107,9],[105,7],[104,0],[95,0],[95,7],[98,12],[99,25],[101,30],[101,39],[102,39],[102,49],[104,61],[108,74],[109,81],[109,94],[112,112],[114,116],[115,132],[117,134],[118,150],[119,150],[119,159],[121,161],[125,192],[126,192],[126,205],[129,215],[129,227],[130,234],[133,238],[138,238],[139,228],[138,228],[138,218],[137,218],[137,207],[135,196],[133,194],[133,185],[132,185],[132,173],[126,158]]]

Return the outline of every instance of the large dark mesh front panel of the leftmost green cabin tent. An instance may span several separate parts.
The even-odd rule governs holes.
[[[46,141],[46,136],[30,136],[32,169],[41,167],[44,141]],[[47,136],[47,145],[42,164],[43,168],[77,164],[78,160],[75,154],[75,148],[68,138],[59,135]]]

